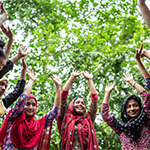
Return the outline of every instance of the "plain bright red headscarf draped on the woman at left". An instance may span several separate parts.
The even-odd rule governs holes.
[[[35,96],[30,95],[29,99],[30,98],[35,99],[36,104],[37,104],[37,100]],[[9,111],[8,115],[11,113],[11,111],[12,109]],[[3,139],[6,136],[7,122],[9,119],[8,115],[6,116],[6,119],[4,120],[4,123],[3,123],[4,125],[2,124],[3,126],[2,128],[5,129],[5,133],[2,131]],[[46,136],[46,139],[50,140],[50,133],[51,133],[52,125],[49,126],[50,128],[46,128],[44,130],[46,115],[37,120],[34,119],[34,117],[35,117],[35,114],[29,117],[25,114],[23,110],[22,113],[13,122],[13,125],[11,128],[11,141],[16,147],[22,148],[22,149],[29,149],[40,144],[38,145],[38,149],[40,150],[41,147],[43,147],[43,145],[41,144],[41,140],[44,140],[45,136]],[[49,133],[45,134],[44,132],[46,130],[48,130]],[[1,131],[0,131],[0,134],[1,134]],[[1,140],[0,140],[0,143],[1,143]],[[48,145],[49,143],[50,141],[46,141],[44,143],[45,145],[42,150],[49,149],[49,145]]]

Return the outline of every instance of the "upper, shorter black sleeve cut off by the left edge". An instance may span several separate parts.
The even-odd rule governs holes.
[[[11,60],[7,60],[6,65],[0,71],[0,79],[10,70],[13,69],[14,64]]]

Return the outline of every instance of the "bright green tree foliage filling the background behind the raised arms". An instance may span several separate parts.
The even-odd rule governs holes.
[[[4,4],[10,23],[19,20],[16,26],[15,21],[12,23],[14,34],[21,30],[23,41],[30,36],[31,51],[26,60],[38,75],[32,91],[38,98],[37,118],[53,107],[52,74],[62,79],[63,87],[73,69],[92,73],[99,96],[98,114],[104,88],[107,83],[114,82],[110,111],[117,118],[125,97],[137,94],[123,81],[123,73],[132,73],[145,87],[134,55],[142,42],[144,48],[149,49],[150,30],[139,19],[136,0],[4,0]],[[17,47],[15,40],[13,49]],[[11,55],[14,53],[12,51]],[[147,61],[144,64],[149,67]],[[20,66],[20,63],[16,65]],[[15,72],[17,74],[18,70]],[[17,78],[11,82],[15,84]],[[82,76],[74,81],[69,101],[76,95],[90,100],[88,83]],[[100,149],[120,149],[118,135],[106,123],[100,119],[100,123],[94,125]],[[58,149],[60,136],[56,122],[53,127],[51,149]]]

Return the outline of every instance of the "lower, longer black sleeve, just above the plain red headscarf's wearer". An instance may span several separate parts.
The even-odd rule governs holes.
[[[8,108],[22,94],[25,87],[25,82],[26,81],[24,79],[18,80],[14,90],[2,99],[6,108]]]

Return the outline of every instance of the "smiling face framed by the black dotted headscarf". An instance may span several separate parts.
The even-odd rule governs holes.
[[[140,111],[141,109],[138,102],[136,102],[134,99],[128,101],[126,105],[126,114],[128,117],[137,117],[140,114]]]

